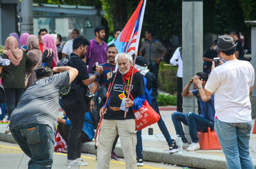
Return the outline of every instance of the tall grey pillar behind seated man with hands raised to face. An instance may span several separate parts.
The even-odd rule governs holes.
[[[203,1],[182,1],[182,87],[191,77],[203,70]],[[193,90],[193,85],[190,90]],[[183,98],[183,113],[197,113],[195,98]],[[186,138],[190,138],[188,127],[184,126]]]

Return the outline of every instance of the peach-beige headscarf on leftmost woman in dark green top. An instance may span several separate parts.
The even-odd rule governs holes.
[[[23,56],[23,51],[18,48],[18,43],[16,38],[9,36],[5,41],[4,54],[8,56],[8,59],[12,62],[14,66],[18,66]]]

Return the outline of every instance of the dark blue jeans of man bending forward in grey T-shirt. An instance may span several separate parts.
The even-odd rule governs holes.
[[[24,124],[12,129],[20,149],[31,158],[28,168],[52,168],[54,131],[45,124]]]

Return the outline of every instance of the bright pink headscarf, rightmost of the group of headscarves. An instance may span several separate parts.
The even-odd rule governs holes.
[[[58,53],[57,53],[57,47],[56,43],[54,41],[54,37],[51,34],[45,34],[42,37],[42,41],[44,43],[44,50],[47,48],[51,48],[53,51],[53,61],[52,61],[52,68],[55,67],[58,63]]]

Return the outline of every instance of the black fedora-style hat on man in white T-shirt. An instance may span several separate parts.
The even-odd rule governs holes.
[[[236,48],[237,42],[233,40],[228,34],[224,34],[218,37],[217,45],[214,47],[214,50],[218,51],[228,51]]]

